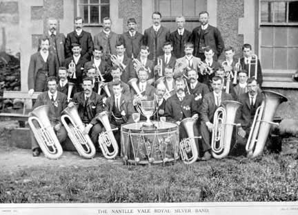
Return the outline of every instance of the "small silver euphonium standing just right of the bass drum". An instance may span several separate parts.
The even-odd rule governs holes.
[[[183,139],[180,142],[180,154],[182,161],[188,164],[197,161],[197,158],[199,156],[197,145],[195,143],[195,138],[197,138],[197,136],[195,136],[193,130],[193,125],[195,124],[195,122],[196,120],[192,118],[186,118],[181,121],[181,124],[188,134],[188,138]]]

